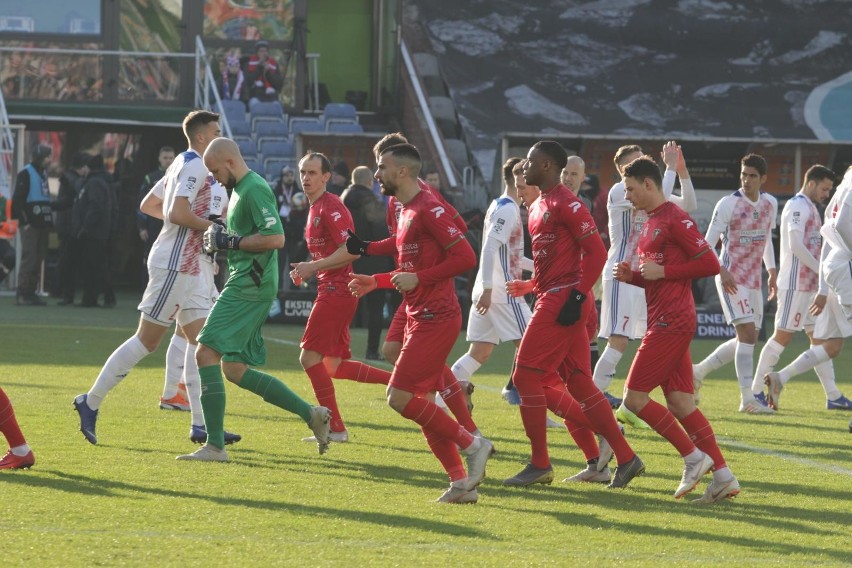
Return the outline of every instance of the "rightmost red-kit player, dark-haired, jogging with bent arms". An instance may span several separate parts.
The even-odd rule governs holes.
[[[639,270],[627,263],[613,269],[613,276],[645,289],[648,329],[627,376],[624,404],[667,439],[684,459],[683,478],[675,491],[680,499],[692,491],[705,473],[713,481],[703,503],[714,503],[740,492],[740,485],[725,464],[713,428],[693,397],[689,344],[695,334],[695,302],[692,280],[719,273],[719,261],[682,209],[666,201],[660,169],[643,156],[624,169],[627,198],[648,212],[639,237]],[[662,387],[665,406],[648,393]]]

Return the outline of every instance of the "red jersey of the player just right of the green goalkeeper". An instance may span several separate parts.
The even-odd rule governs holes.
[[[305,225],[305,242],[311,260],[331,256],[348,237],[347,229],[354,231],[352,214],[343,205],[343,201],[333,193],[325,192],[311,203],[308,221]],[[317,272],[317,293],[335,296],[349,295],[349,274],[352,265],[347,264],[334,270]]]

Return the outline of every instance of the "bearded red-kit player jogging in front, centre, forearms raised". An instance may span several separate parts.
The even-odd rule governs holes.
[[[379,157],[376,179],[382,193],[402,204],[396,231],[397,271],[354,275],[352,294],[360,297],[376,287],[394,287],[405,296],[407,321],[402,350],[388,385],[388,404],[420,425],[432,453],[450,477],[440,502],[472,503],[485,477],[494,446],[474,437],[443,412],[432,395],[441,387],[445,361],[461,327],[455,276],[476,265],[473,249],[446,208],[417,184],[420,154],[401,144]],[[458,448],[467,457],[467,472]]]

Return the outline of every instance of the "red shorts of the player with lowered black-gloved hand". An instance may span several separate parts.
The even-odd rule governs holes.
[[[563,364],[569,374],[591,376],[589,336],[586,332],[593,301],[583,302],[580,319],[573,325],[556,322],[556,316],[568,299],[570,288],[541,294],[535,303],[530,323],[518,347],[518,366],[545,373],[556,372]],[[566,380],[570,377],[564,377]]]

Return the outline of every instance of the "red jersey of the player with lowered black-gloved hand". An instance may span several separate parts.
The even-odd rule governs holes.
[[[582,276],[583,249],[578,241],[597,231],[588,208],[570,189],[559,184],[542,192],[530,206],[528,225],[535,292],[575,286]]]

